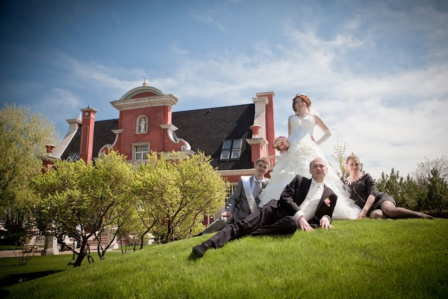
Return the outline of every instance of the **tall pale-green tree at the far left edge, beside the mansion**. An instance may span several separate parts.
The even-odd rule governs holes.
[[[0,223],[23,222],[28,183],[41,173],[45,145],[57,140],[54,125],[42,114],[15,104],[0,110]]]

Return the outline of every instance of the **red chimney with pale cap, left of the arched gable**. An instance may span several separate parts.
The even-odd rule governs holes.
[[[82,112],[83,123],[81,124],[81,144],[79,147],[79,158],[83,159],[87,164],[92,161],[95,113],[97,113],[98,110],[90,106],[80,110]]]

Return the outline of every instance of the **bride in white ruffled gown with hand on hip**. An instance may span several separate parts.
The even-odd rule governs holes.
[[[302,94],[293,98],[293,110],[296,113],[288,119],[288,141],[290,143],[287,151],[282,150],[277,158],[271,179],[264,191],[260,194],[260,204],[263,206],[271,199],[279,199],[280,194],[287,184],[300,174],[311,178],[310,162],[320,157],[325,161],[323,151],[318,147],[326,141],[332,133],[324,121],[312,113],[311,100]],[[324,135],[317,142],[314,141],[314,127],[318,126]],[[337,195],[333,219],[356,219],[360,212],[359,207],[349,198],[349,194],[342,188],[342,181],[330,165],[325,176],[325,184]]]

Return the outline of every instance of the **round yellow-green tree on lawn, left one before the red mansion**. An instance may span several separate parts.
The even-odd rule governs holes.
[[[132,165],[125,156],[111,151],[95,163],[57,161],[44,175],[36,177],[37,198],[30,205],[34,224],[74,236],[81,243],[73,266],[81,266],[89,253],[89,238],[103,228],[111,211],[133,198],[129,195]],[[93,260],[93,259],[92,259]]]

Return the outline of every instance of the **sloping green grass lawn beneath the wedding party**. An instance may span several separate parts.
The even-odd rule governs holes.
[[[23,267],[2,258],[0,289],[11,298],[448,298],[448,220],[333,224],[328,232],[245,237],[202,259],[191,248],[207,236],[108,253],[79,268],[66,266],[70,256]],[[5,283],[19,273],[50,275]]]

